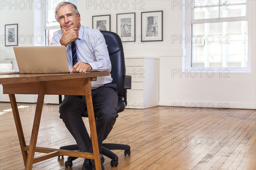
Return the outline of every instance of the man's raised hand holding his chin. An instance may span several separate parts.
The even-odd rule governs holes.
[[[61,40],[60,40],[60,43],[61,45],[65,45],[65,47],[67,47],[67,45],[70,43],[70,42],[73,42],[78,38],[79,36],[79,31],[78,29],[75,27],[75,28],[70,28],[69,30],[65,30],[65,28],[61,28],[62,31],[63,31],[63,35],[61,37]]]

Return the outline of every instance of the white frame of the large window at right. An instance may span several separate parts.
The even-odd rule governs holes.
[[[183,0],[183,3],[189,3],[191,0]],[[237,3],[236,5],[243,5],[244,3]],[[231,5],[231,4],[230,4]],[[183,66],[182,71],[200,71],[200,72],[207,72],[207,71],[214,71],[214,72],[237,72],[237,73],[248,73],[251,72],[251,37],[250,37],[250,0],[246,2],[246,16],[243,17],[224,17],[224,18],[209,18],[209,19],[196,19],[194,20],[194,12],[192,8],[183,8],[183,39],[182,45],[185,48],[183,54]],[[220,16],[220,15],[219,15]],[[192,43],[189,43],[186,40],[186,37],[192,36],[192,24],[198,23],[221,23],[221,22],[233,22],[233,21],[247,21],[248,22],[248,63],[247,67],[192,67]],[[186,43],[187,42],[187,43]]]

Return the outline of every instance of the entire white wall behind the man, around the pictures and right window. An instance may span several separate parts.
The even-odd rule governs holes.
[[[96,2],[99,6],[96,6]],[[102,5],[100,2],[102,2]],[[182,56],[186,55],[186,53],[183,52],[186,51],[186,49],[182,48],[182,44],[177,41],[172,43],[172,35],[179,36],[182,34],[182,10],[179,8],[174,8],[172,10],[172,0],[136,1],[137,6],[135,10],[133,0],[126,1],[129,3],[127,9],[124,9],[127,7],[125,6],[125,3],[121,6],[122,1],[118,1],[118,3],[113,3],[113,1],[108,2],[111,3],[111,8],[110,6],[104,6],[105,1],[79,0],[78,9],[81,14],[81,23],[85,26],[92,27],[92,16],[111,14],[111,31],[116,32],[116,14],[136,12],[136,35],[138,37],[141,34],[141,12],[163,10],[163,42],[145,42],[140,44],[137,38],[135,43],[128,42],[124,44],[126,57],[160,57],[160,105],[195,106],[196,104],[197,106],[207,105],[211,107],[213,104],[214,107],[219,107],[221,105],[224,108],[256,108],[255,48],[249,48],[249,54],[252,59],[251,73],[230,73],[228,74],[229,78],[224,78],[224,73],[221,74],[221,78],[217,73],[215,73],[212,78],[208,78],[204,73],[202,77],[198,75],[195,78],[189,76],[186,78],[185,74],[182,74],[181,76],[175,74],[172,76],[173,69],[177,69],[178,71],[181,70]],[[105,3],[105,5],[108,4]],[[144,10],[139,9],[140,6],[144,8]],[[101,7],[102,9],[100,9]],[[252,2],[251,8],[253,9],[251,10],[251,16],[254,22],[250,22],[249,29],[253,33],[249,36],[256,37],[255,1]],[[12,23],[19,24],[19,35],[35,33],[34,20],[38,21],[41,20],[41,18],[34,19],[33,13],[33,10],[28,8],[25,10],[15,10],[13,8],[11,10],[7,8],[3,8],[3,10],[1,9],[1,35],[4,34],[4,25]],[[12,47],[4,47],[4,43],[2,42],[0,46],[1,48],[6,49],[9,58],[14,57]],[[255,38],[253,38],[250,46],[256,46]],[[224,106],[225,103],[227,103],[227,105]]]

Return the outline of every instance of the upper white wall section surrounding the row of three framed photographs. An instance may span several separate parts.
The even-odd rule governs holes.
[[[102,2],[102,6],[100,5]],[[124,43],[125,55],[127,57],[137,56],[170,56],[171,53],[182,55],[182,47],[176,42],[172,44],[171,35],[182,34],[182,11],[171,10],[171,0],[143,0],[143,1],[78,1],[78,9],[81,14],[81,24],[92,27],[92,16],[111,14],[111,31],[116,32],[116,14],[136,13],[136,42]],[[125,2],[125,3],[124,3]],[[134,2],[136,9],[134,10]],[[93,4],[91,4],[93,3]],[[128,6],[128,7],[127,7]],[[102,9],[101,9],[102,7]],[[126,9],[127,8],[127,9]],[[144,10],[142,9],[144,8]],[[141,12],[163,10],[163,42],[140,42],[141,34]],[[172,23],[174,21],[174,23]],[[170,51],[171,50],[171,51]],[[178,51],[178,52],[177,52]]]

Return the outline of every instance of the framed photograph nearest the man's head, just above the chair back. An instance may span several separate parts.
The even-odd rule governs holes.
[[[93,29],[110,31],[110,15],[93,16]]]

